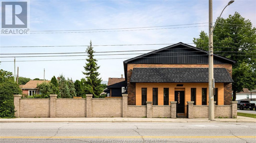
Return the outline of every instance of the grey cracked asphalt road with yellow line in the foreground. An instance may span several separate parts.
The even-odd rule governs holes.
[[[256,143],[256,123],[0,123],[0,143]]]

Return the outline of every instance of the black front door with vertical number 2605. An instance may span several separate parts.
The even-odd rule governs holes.
[[[175,91],[175,101],[177,102],[177,113],[185,113],[184,91]]]

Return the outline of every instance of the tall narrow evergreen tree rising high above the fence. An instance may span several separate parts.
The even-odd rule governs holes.
[[[93,98],[99,98],[103,89],[101,88],[101,78],[97,70],[100,68],[97,66],[96,59],[93,58],[93,47],[92,41],[90,41],[90,46],[87,47],[86,52],[88,54],[88,59],[86,59],[87,63],[84,66],[85,72],[82,72],[86,75],[86,82],[88,84],[88,91],[93,94]]]

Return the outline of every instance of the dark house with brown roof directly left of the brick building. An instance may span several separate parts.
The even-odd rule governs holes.
[[[108,78],[107,88],[104,92],[107,93],[108,97],[122,97],[122,92],[124,92],[126,86],[126,81],[122,74],[121,78]]]

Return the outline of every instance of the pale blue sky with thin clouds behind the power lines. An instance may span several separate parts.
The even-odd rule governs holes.
[[[30,0],[28,22],[31,33],[22,36],[1,35],[0,53],[85,52],[86,45],[89,45],[90,41],[92,41],[93,45],[95,45],[93,46],[94,51],[102,52],[95,53],[94,58],[99,59],[97,61],[100,66],[98,72],[103,83],[106,83],[109,77],[118,78],[121,77],[121,74],[124,74],[123,61],[149,52],[131,52],[132,50],[157,50],[168,46],[168,44],[171,45],[178,42],[194,46],[193,38],[198,38],[200,31],[208,33],[208,2],[208,0]],[[228,2],[229,0],[213,0],[213,21],[221,14]],[[233,4],[224,10],[221,17],[227,18],[228,15],[233,15],[235,11],[239,12],[245,19],[251,20],[253,25],[256,25],[256,0],[235,0]],[[154,28],[100,30],[138,27]],[[42,31],[55,32],[46,33]],[[57,33],[56,31],[62,32]],[[67,47],[10,47],[60,45]],[[106,51],[129,51],[122,52],[129,53],[129,55],[102,55],[116,54],[115,52]],[[96,54],[101,55],[96,56]],[[16,57],[16,69],[19,67],[19,76],[31,79],[43,79],[45,69],[46,80],[50,80],[54,75],[58,77],[60,74],[72,78],[72,80],[80,80],[85,78],[82,72],[84,72],[83,66],[86,64],[85,59],[87,56],[85,56],[85,53],[76,55],[83,56]],[[12,57],[3,58],[4,56]],[[0,55],[0,61],[12,61],[1,62],[0,69],[14,72],[13,56]],[[76,59],[79,60],[40,61]]]

